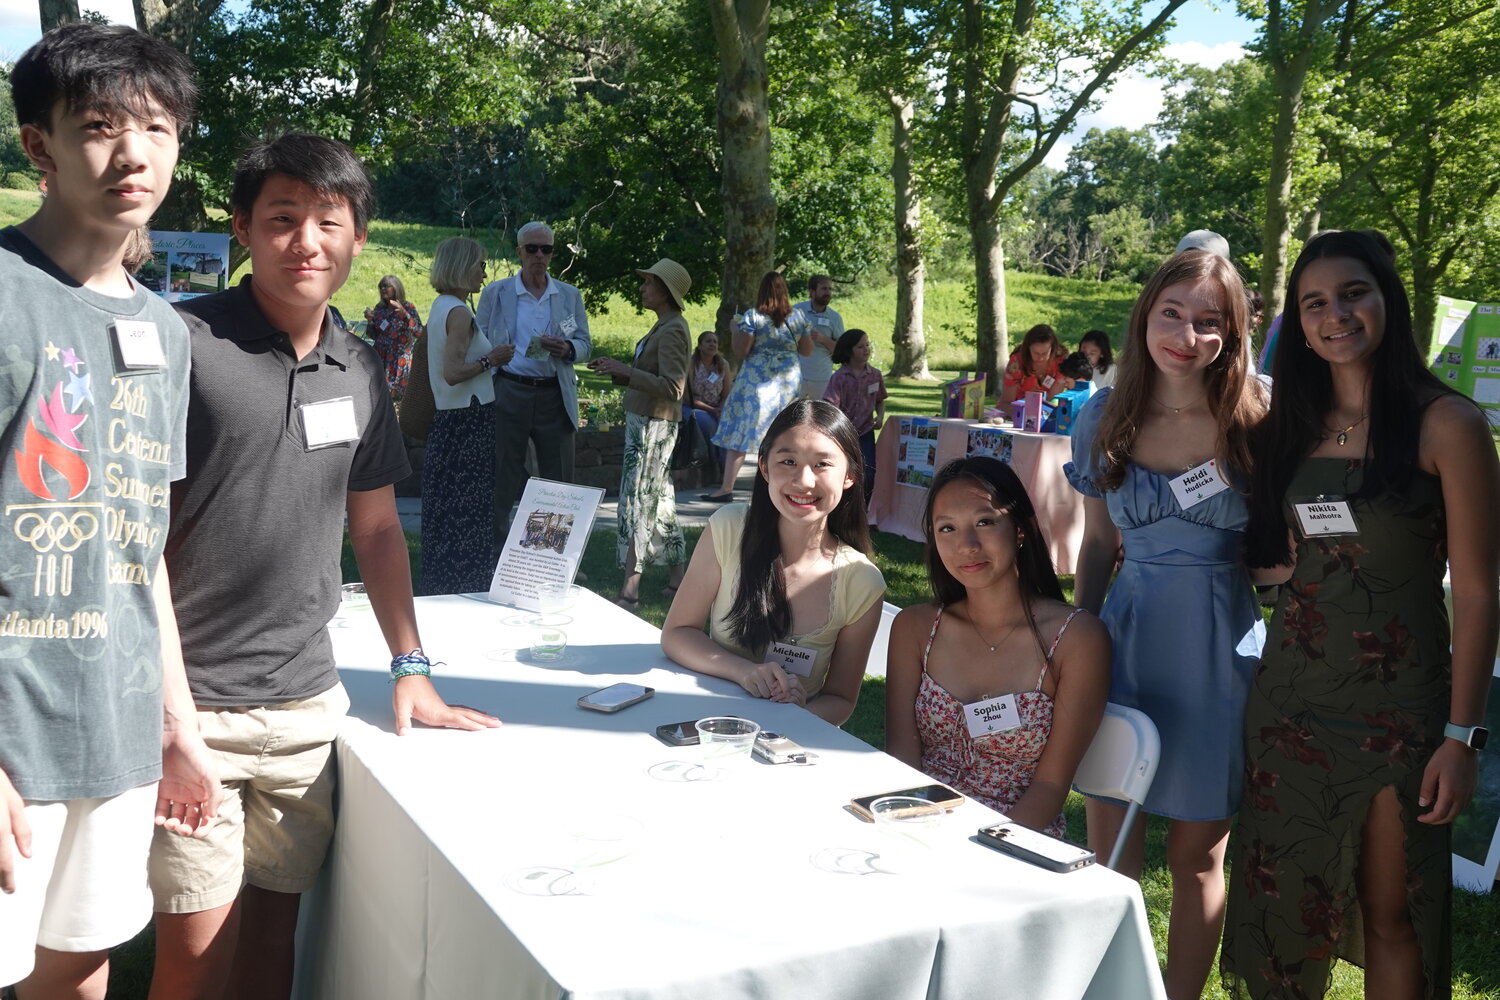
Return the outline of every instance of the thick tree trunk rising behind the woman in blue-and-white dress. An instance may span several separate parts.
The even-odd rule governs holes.
[[[724,273],[714,324],[720,343],[729,343],[735,313],[754,304],[760,279],[776,262],[765,66],[770,7],[770,0],[708,0],[718,42],[716,97],[723,148]]]

